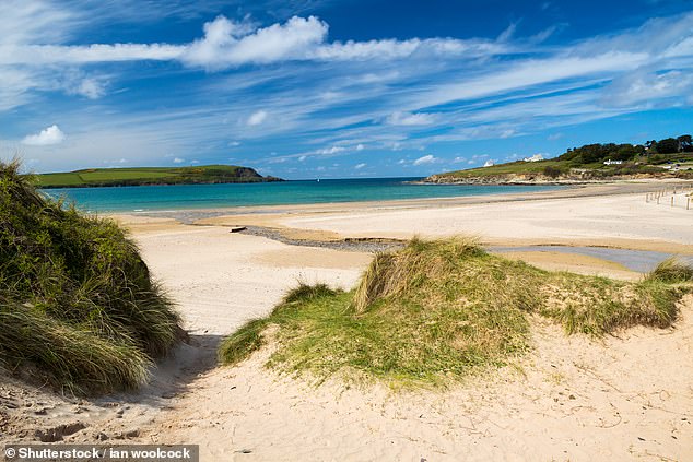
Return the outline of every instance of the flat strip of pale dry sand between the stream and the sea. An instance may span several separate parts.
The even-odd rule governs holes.
[[[319,233],[325,233],[326,239],[463,234],[498,246],[556,244],[693,254],[693,214],[685,209],[683,193],[677,194],[673,208],[663,200],[661,204],[646,203],[643,193],[563,197],[565,193],[529,194],[532,200],[475,198],[484,201],[470,200],[468,204],[454,200],[446,204],[419,202],[419,206],[332,204],[305,212],[234,214],[197,223],[289,228],[294,237],[299,237],[299,230],[307,233],[307,239]]]

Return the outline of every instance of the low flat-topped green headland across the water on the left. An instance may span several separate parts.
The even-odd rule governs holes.
[[[35,175],[38,188],[84,188],[145,185],[211,185],[228,182],[282,181],[263,177],[252,168],[235,165],[195,167],[89,168],[83,170]]]

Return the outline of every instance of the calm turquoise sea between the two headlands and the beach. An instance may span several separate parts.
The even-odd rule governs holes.
[[[324,179],[242,185],[45,189],[90,212],[145,212],[251,205],[454,198],[556,189],[551,186],[416,185],[421,178]]]

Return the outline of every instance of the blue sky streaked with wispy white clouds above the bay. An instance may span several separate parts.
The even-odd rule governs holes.
[[[0,159],[416,177],[693,132],[693,1],[0,0]]]

